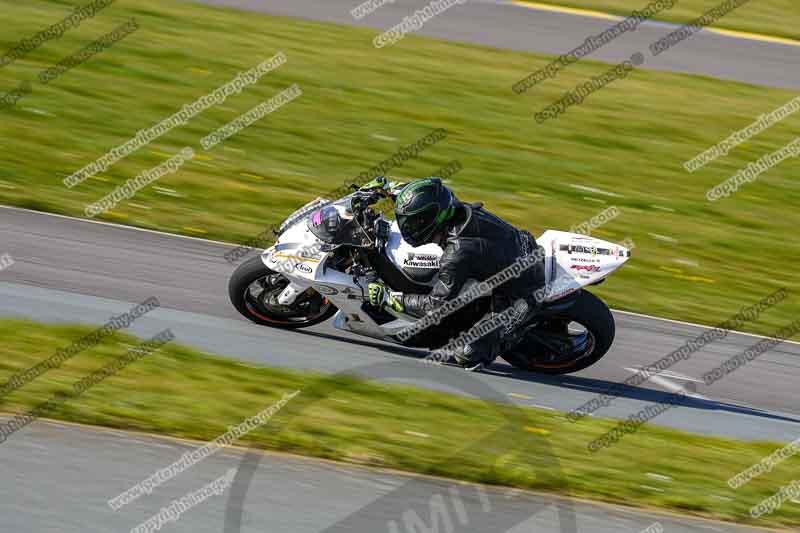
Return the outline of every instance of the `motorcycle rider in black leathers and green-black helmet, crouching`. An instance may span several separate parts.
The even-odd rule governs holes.
[[[530,233],[486,211],[482,204],[461,203],[436,177],[406,185],[397,196],[395,215],[408,244],[417,247],[436,243],[443,248],[439,277],[430,294],[394,293],[382,283],[370,283],[369,301],[373,306],[390,307],[416,317],[456,298],[469,280],[485,281],[537,249]],[[537,305],[533,295],[542,286],[544,265],[537,262],[492,292],[491,309],[481,320],[507,310],[520,297],[531,306]],[[512,329],[513,326],[495,329],[450,353],[464,368],[480,370],[500,355],[502,340]]]

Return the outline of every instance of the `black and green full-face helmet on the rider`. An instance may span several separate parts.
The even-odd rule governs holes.
[[[395,217],[403,239],[411,246],[428,242],[453,218],[458,201],[439,178],[425,178],[405,186],[395,202]]]

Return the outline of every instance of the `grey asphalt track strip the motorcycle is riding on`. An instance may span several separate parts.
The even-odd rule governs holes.
[[[246,321],[228,301],[227,280],[235,267],[223,258],[230,249],[225,244],[13,208],[0,208],[0,241],[16,260],[0,272],[0,316],[100,325],[155,296],[163,308],[138,320],[133,333],[149,337],[170,327],[178,343],[259,364],[358,373],[386,360],[419,365],[417,359],[426,355],[341,332],[329,323],[283,331]],[[637,315],[615,317],[612,350],[583,372],[540,376],[498,362],[479,377],[517,403],[569,411],[703,331]],[[656,423],[742,439],[792,440],[800,431],[799,344],[784,343],[710,387],[702,383],[705,372],[758,340],[731,334],[707,345],[645,386],[626,389],[597,414],[625,418],[694,386],[694,398]],[[418,385],[441,388],[433,380]]]

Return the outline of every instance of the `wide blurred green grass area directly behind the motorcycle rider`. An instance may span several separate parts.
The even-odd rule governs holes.
[[[69,13],[74,2],[0,0],[4,48]],[[755,5],[752,4],[752,5]],[[699,76],[634,72],[558,120],[533,113],[607,65],[582,61],[518,96],[511,86],[550,58],[407,36],[376,50],[374,30],[191,3],[126,0],[0,69],[0,91],[79,50],[128,17],[141,29],[0,112],[0,203],[82,216],[86,204],[184,146],[202,159],[121,204],[107,220],[245,242],[436,128],[450,135],[394,169],[420,178],[450,161],[452,186],[538,235],[616,205],[594,235],[636,243],[597,293],[612,306],[706,324],[785,286],[790,297],[745,329],[769,334],[800,311],[795,260],[800,169],[784,162],[714,204],[708,188],[787,144],[790,117],[688,174],[682,164],[789,101],[789,91]],[[241,94],[75,189],[61,180],[284,51],[288,63]],[[223,146],[199,140],[297,83],[304,94]],[[395,139],[395,140],[392,140]]]

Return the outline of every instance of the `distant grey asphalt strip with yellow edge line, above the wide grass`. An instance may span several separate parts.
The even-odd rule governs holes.
[[[356,21],[350,10],[355,0],[201,0],[203,3],[261,11],[271,15],[305,18],[374,28],[375,35],[400,24],[429,0],[403,0],[386,4]],[[644,7],[649,0],[642,0]],[[473,1],[456,5],[434,17],[416,33],[427,37],[469,42],[543,54],[564,54],[598,35],[616,21],[531,9],[510,2]],[[662,22],[645,22],[603,46],[586,59],[619,63],[634,52],[645,55],[642,68],[700,74],[756,85],[800,88],[797,55],[800,47],[756,41],[701,31],[683,43],[653,57],[648,46],[677,28]],[[372,46],[372,37],[364,46]],[[798,43],[800,44],[800,43]],[[403,46],[400,41],[392,46]],[[387,50],[382,50],[386,51]],[[530,72],[520,72],[520,79]],[[511,88],[509,87],[509,94]],[[531,90],[520,98],[535,98]]]

